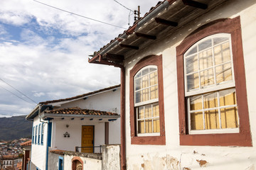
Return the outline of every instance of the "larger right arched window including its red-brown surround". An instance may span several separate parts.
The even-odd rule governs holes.
[[[176,52],[180,144],[252,146],[240,17],[198,28]]]

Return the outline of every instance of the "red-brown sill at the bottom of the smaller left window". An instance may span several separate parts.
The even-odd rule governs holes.
[[[132,137],[132,145],[166,145],[165,136]]]

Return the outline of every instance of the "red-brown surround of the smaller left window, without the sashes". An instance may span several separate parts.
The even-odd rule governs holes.
[[[136,117],[134,108],[134,76],[140,69],[148,65],[155,65],[158,74],[159,86],[159,121],[160,121],[160,136],[138,137],[136,132]],[[165,145],[165,128],[164,128],[164,85],[163,85],[163,66],[161,55],[150,55],[139,60],[130,71],[129,81],[129,98],[130,98],[130,125],[131,125],[131,140],[132,145]]]

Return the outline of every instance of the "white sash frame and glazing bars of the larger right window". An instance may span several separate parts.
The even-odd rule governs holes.
[[[213,45],[213,38],[228,38],[228,40],[223,41],[218,43],[217,45],[223,44],[224,42],[229,42],[230,45],[230,64],[231,64],[231,73],[232,73],[232,80],[230,81],[225,81],[223,83],[220,84],[216,84],[216,73],[215,73],[215,67],[217,67],[218,65],[223,65],[229,62],[224,62],[222,64],[218,64],[215,65],[215,60],[214,60],[214,52],[213,52],[213,47],[217,46],[217,45]],[[198,57],[198,53],[201,52],[198,50],[198,44],[200,44],[201,42],[204,42],[206,40],[212,40],[212,46],[207,47],[206,49],[203,49],[201,51],[205,51],[205,50],[209,50],[212,49],[212,60],[213,60],[213,66],[209,67],[207,69],[213,68],[213,76],[214,76],[214,84],[210,85],[210,86],[206,86],[201,88],[201,79],[200,79],[200,72],[202,72],[203,70],[207,70],[207,69],[200,69],[199,68],[199,57]],[[186,56],[186,54],[193,49],[193,47],[197,47],[197,52],[193,53],[192,55],[188,55]],[[198,84],[199,84],[199,88],[198,89],[191,89],[191,91],[188,91],[188,83],[187,83],[187,74],[186,74],[186,58],[191,57],[193,55],[196,55],[198,57],[198,71],[196,72],[191,72],[189,74],[194,74],[194,73],[198,73]],[[235,89],[235,74],[234,74],[234,67],[233,67],[233,51],[232,51],[232,41],[231,41],[231,35],[228,33],[218,33],[218,34],[214,34],[214,35],[209,35],[206,38],[203,38],[201,40],[199,40],[198,42],[196,42],[194,45],[192,45],[191,47],[188,48],[188,50],[185,52],[185,54],[183,55],[183,61],[184,61],[184,85],[185,85],[185,97],[187,97],[187,114],[188,114],[188,134],[194,135],[194,134],[216,134],[216,133],[238,133],[239,132],[239,116],[238,116],[238,128],[225,128],[225,129],[213,129],[213,130],[191,130],[191,111],[190,111],[190,97],[192,96],[197,96],[197,95],[203,95],[206,93],[210,93],[210,92],[217,92],[218,94],[218,106],[220,105],[220,101],[219,101],[219,92],[221,90],[224,89],[231,89],[234,88]],[[203,101],[203,96],[202,96],[202,101]],[[238,107],[237,104],[233,105],[234,107]],[[229,108],[232,106],[222,106],[222,107],[217,107],[217,108],[209,108],[209,109],[204,109],[203,108],[203,102],[202,102],[202,113],[204,113],[204,111],[208,111],[208,110],[220,110],[220,108]],[[198,112],[200,110],[197,110],[195,112]],[[237,113],[238,114],[238,113]],[[220,117],[220,114],[218,114]],[[205,116],[203,114],[203,126],[205,128]],[[220,122],[221,124],[221,122]],[[220,125],[221,126],[221,125]]]

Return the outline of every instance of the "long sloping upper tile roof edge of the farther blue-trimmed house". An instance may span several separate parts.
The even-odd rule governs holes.
[[[53,101],[42,101],[39,104],[56,103],[56,102],[60,102],[60,101],[70,101],[70,100],[73,100],[73,99],[82,98],[82,97],[89,96],[89,95],[92,95],[92,94],[97,94],[97,93],[102,92],[102,91],[108,91],[108,90],[111,90],[111,89],[114,90],[114,89],[117,89],[119,86],[120,86],[120,84],[116,85],[116,86],[110,86],[110,87],[107,87],[105,89],[92,91],[92,92],[87,93],[87,94],[81,94],[81,95],[78,95],[78,96],[70,97],[70,98],[62,98],[62,99],[53,100]]]

